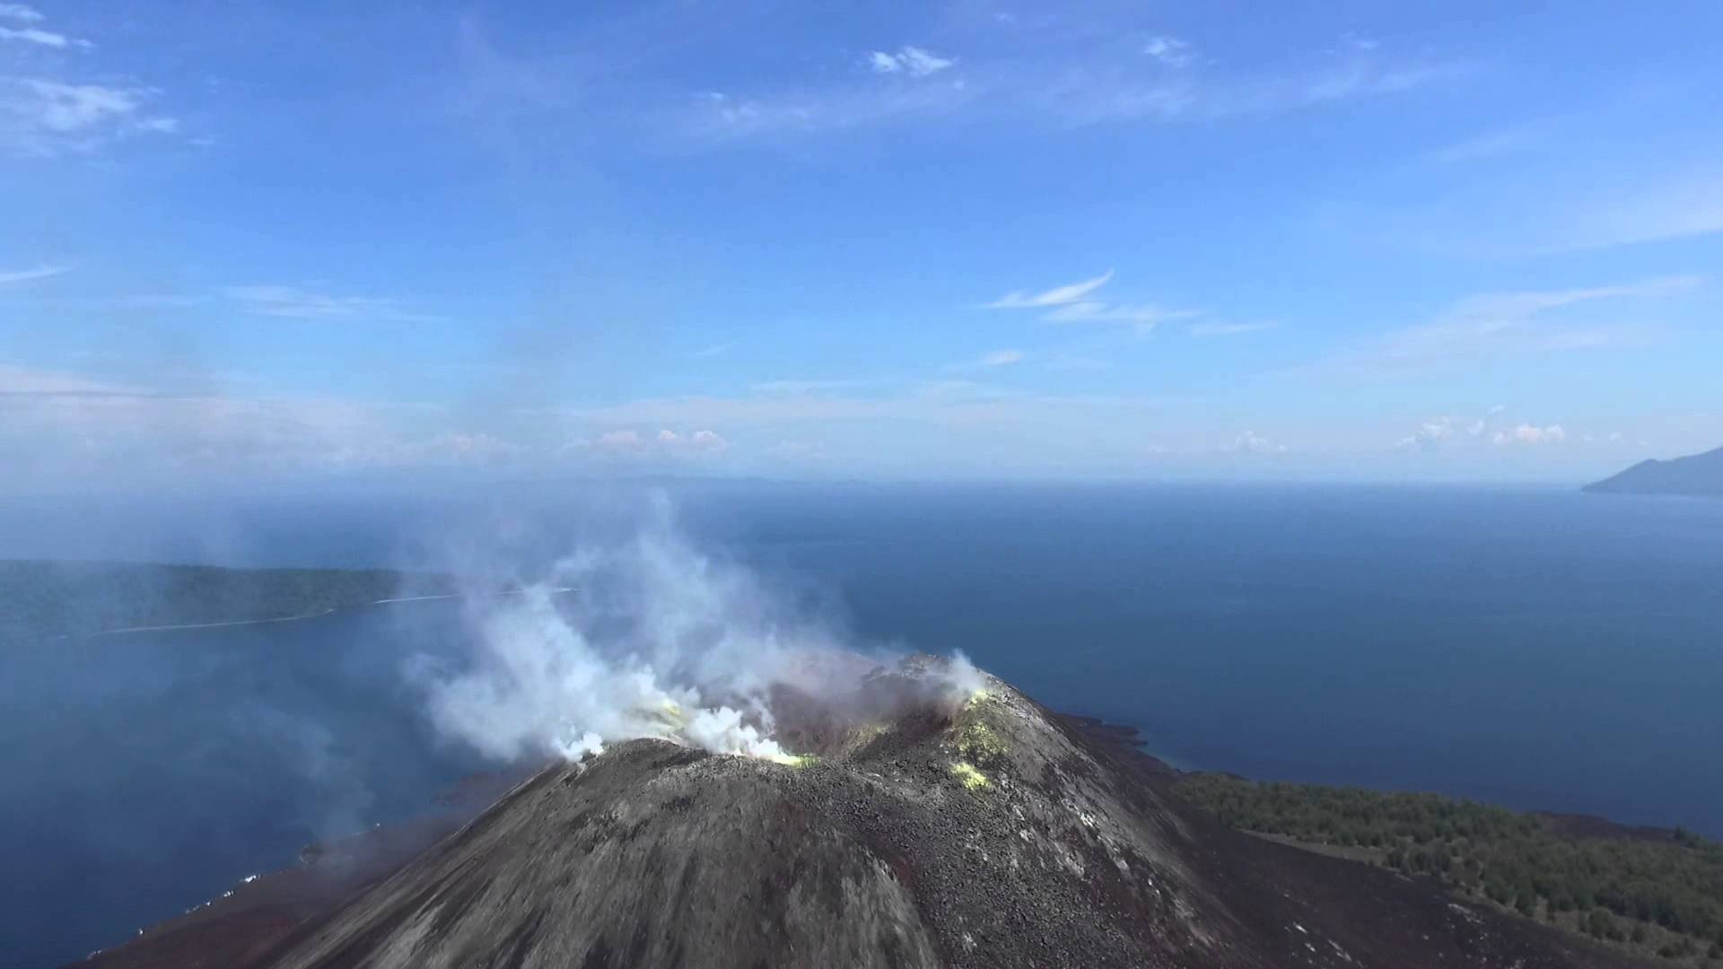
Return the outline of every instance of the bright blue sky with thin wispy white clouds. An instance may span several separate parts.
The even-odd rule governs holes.
[[[1707,2],[0,2],[3,490],[1704,450],[1720,41]]]

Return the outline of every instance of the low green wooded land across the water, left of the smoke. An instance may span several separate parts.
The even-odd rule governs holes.
[[[386,569],[0,560],[0,643],[134,626],[315,616],[379,598],[453,590],[455,581],[446,576]]]

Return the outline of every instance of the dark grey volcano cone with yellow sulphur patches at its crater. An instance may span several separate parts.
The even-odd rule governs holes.
[[[779,703],[787,762],[608,745],[269,938],[243,921],[264,878],[229,900],[226,928],[167,924],[93,962],[1639,966],[1432,883],[1225,829],[1130,731],[986,674],[956,698],[924,688],[942,662],[877,669],[865,703]]]

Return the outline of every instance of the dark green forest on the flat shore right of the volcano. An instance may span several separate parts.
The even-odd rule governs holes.
[[[1664,959],[1723,957],[1723,843],[1592,826],[1440,795],[1194,774],[1191,803],[1230,828],[1363,852],[1521,916]]]

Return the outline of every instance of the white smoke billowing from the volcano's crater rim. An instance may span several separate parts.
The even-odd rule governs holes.
[[[420,669],[439,729],[505,760],[579,760],[606,743],[660,738],[789,760],[774,740],[772,691],[853,691],[891,657],[848,647],[737,562],[696,550],[663,500],[631,540],[586,548],[519,595],[469,600],[476,655]],[[951,691],[980,674],[951,664]],[[958,683],[961,679],[961,685]]]

